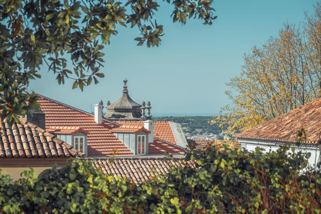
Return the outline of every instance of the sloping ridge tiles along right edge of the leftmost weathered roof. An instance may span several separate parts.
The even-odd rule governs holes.
[[[36,126],[33,123],[30,123],[29,121],[23,119],[23,118],[19,118],[20,122],[22,125],[27,125],[30,128],[36,129],[36,131],[40,132],[41,134],[43,134],[45,137],[49,137],[51,138],[55,143],[60,144],[61,146],[65,146],[73,155],[77,154],[80,157],[84,157],[86,156],[86,154],[77,151],[74,147],[70,146],[69,144],[65,143],[63,140],[56,138],[53,134],[50,134],[49,132],[47,132],[44,129],[39,128],[38,126]]]

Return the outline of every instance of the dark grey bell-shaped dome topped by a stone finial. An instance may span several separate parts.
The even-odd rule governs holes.
[[[142,106],[135,103],[128,95],[126,78],[124,83],[123,94],[115,103],[107,106],[107,113],[104,116],[107,120],[140,120],[142,117]]]

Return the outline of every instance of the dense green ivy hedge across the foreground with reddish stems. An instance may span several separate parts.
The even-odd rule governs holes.
[[[162,178],[136,185],[96,172],[77,160],[25,171],[12,183],[0,175],[3,213],[321,213],[321,174],[305,168],[309,154],[288,147],[263,154],[215,148],[191,150],[195,168],[173,168]],[[305,168],[306,171],[302,171]]]

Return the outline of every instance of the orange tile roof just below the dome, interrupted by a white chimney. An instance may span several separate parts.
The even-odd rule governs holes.
[[[121,125],[126,126],[144,126],[144,122],[141,121],[115,121]],[[176,139],[169,121],[155,121],[154,122],[154,137],[160,138],[172,144],[176,144]]]

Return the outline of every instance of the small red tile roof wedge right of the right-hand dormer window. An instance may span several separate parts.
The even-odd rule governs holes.
[[[153,143],[148,144],[148,153],[150,155],[162,155],[162,154],[185,154],[186,151],[174,144],[164,142],[154,138]]]

